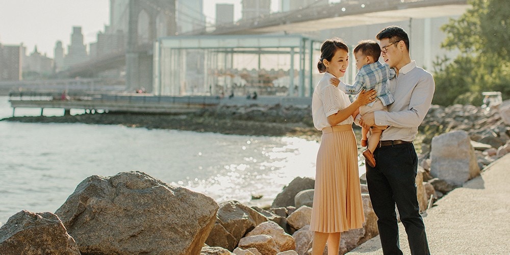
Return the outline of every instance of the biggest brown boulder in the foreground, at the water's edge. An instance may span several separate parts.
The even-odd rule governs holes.
[[[210,197],[143,172],[91,176],[56,212],[82,253],[199,254],[216,219]]]

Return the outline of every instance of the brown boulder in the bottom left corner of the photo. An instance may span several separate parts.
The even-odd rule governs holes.
[[[57,215],[23,210],[0,227],[0,254],[80,254],[80,250]]]

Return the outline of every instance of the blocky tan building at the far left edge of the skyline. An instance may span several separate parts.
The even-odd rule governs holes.
[[[0,44],[0,81],[22,80],[21,56],[21,46]]]

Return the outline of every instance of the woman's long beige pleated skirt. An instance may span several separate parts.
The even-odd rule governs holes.
[[[326,127],[317,154],[310,230],[338,233],[363,227],[365,215],[352,125]]]

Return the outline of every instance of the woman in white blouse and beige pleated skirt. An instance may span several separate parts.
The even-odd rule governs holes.
[[[365,215],[358,173],[358,149],[352,122],[360,106],[375,100],[375,91],[362,91],[351,104],[331,78],[340,79],[349,65],[349,49],[341,39],[326,40],[317,64],[323,78],[312,97],[312,116],[322,131],[317,154],[314,203],[310,229],[314,231],[312,254],[338,254],[340,234],[363,227]]]

